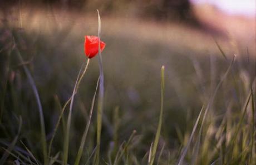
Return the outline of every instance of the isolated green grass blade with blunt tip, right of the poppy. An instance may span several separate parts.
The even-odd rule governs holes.
[[[156,136],[155,136],[155,141],[153,143],[153,148],[152,148],[152,155],[150,159],[150,165],[154,163],[155,159],[155,154],[156,154],[156,149],[157,145],[160,139],[160,133],[161,133],[161,127],[162,127],[162,122],[163,122],[163,109],[164,109],[164,66],[161,67],[161,108],[160,108],[160,116],[159,116],[159,123],[157,126],[156,130]]]

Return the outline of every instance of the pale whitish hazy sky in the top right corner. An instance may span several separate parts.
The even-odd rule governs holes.
[[[256,0],[190,0],[194,3],[210,3],[230,14],[256,15]]]

